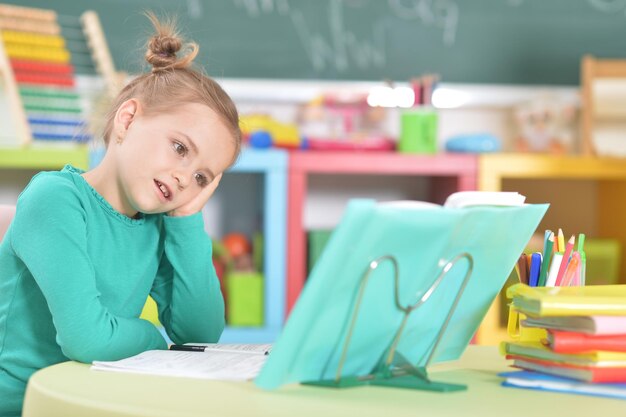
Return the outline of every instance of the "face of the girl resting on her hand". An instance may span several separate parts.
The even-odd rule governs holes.
[[[131,107],[117,127],[122,140],[113,137],[110,146],[117,147],[122,212],[131,217],[169,212],[190,202],[228,168],[235,152],[228,128],[202,104],[153,116]]]

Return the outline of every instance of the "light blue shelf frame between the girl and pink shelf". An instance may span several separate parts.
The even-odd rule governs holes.
[[[228,326],[220,339],[222,343],[270,343],[276,340],[282,328],[286,300],[288,160],[288,153],[284,150],[246,148],[229,171],[264,176],[262,232],[266,248],[263,262],[265,310],[263,327]]]

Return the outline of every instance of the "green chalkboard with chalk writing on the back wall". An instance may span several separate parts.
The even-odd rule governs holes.
[[[626,0],[20,0],[101,17],[118,68],[142,68],[142,10],[178,15],[217,77],[579,83],[584,54],[626,58]]]

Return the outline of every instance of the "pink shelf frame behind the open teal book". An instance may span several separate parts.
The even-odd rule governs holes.
[[[306,278],[304,201],[309,174],[368,174],[429,177],[435,182],[430,200],[442,203],[455,191],[476,190],[478,158],[475,155],[404,155],[393,152],[295,151],[289,155],[287,219],[287,313],[291,311]]]

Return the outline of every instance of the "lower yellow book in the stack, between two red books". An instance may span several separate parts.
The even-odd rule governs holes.
[[[500,353],[577,366],[626,367],[626,352],[556,353],[541,342],[502,342]]]

